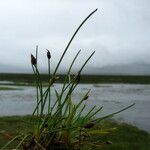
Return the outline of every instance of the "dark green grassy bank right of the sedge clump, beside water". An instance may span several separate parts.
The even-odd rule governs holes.
[[[113,142],[111,146],[103,145],[103,150],[150,150],[149,133],[126,123],[109,123],[108,125],[117,127],[117,130],[102,137],[105,141]]]

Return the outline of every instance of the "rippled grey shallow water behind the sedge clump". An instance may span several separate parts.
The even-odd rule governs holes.
[[[61,87],[60,84],[55,86],[58,89]],[[32,113],[36,104],[35,88],[26,86],[19,88],[22,90],[0,91],[0,116]],[[150,132],[150,85],[81,84],[74,93],[74,102],[78,101],[88,89],[91,89],[91,94],[87,100],[87,107],[103,106],[103,111],[98,116],[104,116],[136,103],[132,108],[117,114],[115,118]]]

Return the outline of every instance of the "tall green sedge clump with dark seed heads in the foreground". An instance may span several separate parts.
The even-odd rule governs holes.
[[[41,75],[38,70],[38,46],[36,47],[36,57],[31,54],[31,65],[35,76],[37,104],[32,114],[32,120],[30,124],[34,127],[33,131],[27,133],[21,133],[12,138],[4,147],[5,149],[10,143],[18,141],[16,149],[35,149],[35,150],[49,150],[49,149],[80,149],[87,146],[99,146],[99,140],[93,141],[94,135],[106,134],[112,129],[101,129],[99,124],[102,120],[110,118],[117,113],[120,113],[134,104],[117,111],[115,113],[106,115],[101,118],[95,118],[97,113],[100,113],[103,107],[92,107],[85,112],[86,101],[89,98],[90,90],[87,91],[81,100],[77,103],[73,103],[72,94],[78,84],[80,83],[80,75],[85,65],[91,59],[95,52],[93,52],[85,62],[83,62],[81,68],[78,70],[76,76],[70,75],[73,65],[76,62],[77,57],[80,54],[80,50],[72,60],[70,67],[64,79],[64,83],[60,91],[52,85],[57,80],[58,68],[77,32],[82,25],[97,11],[91,12],[85,20],[79,25],[69,43],[67,44],[55,70],[51,75],[50,51],[47,51],[48,60],[48,87],[43,89]],[[55,101],[51,99],[51,89],[55,91]],[[94,119],[95,118],[95,119]]]

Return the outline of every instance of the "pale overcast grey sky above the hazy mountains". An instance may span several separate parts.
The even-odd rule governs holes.
[[[94,9],[73,41],[63,66],[81,49],[79,61],[93,51],[89,67],[150,64],[149,0],[0,0],[0,65],[30,68],[39,45],[41,67],[46,50],[58,62],[68,40]]]

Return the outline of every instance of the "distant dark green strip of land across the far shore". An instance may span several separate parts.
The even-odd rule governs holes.
[[[59,79],[56,83],[63,83],[65,75],[57,75]],[[73,76],[73,75],[71,75]],[[41,74],[42,82],[47,83],[48,75]],[[33,74],[0,73],[0,81],[13,81],[12,85],[34,85]],[[130,83],[130,84],[150,84],[150,76],[131,75],[81,75],[80,83]],[[8,85],[10,85],[8,83]]]

